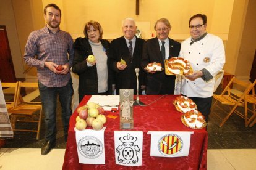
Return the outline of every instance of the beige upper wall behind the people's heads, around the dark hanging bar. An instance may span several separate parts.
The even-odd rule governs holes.
[[[42,2],[45,6],[52,1],[43,0]],[[103,27],[103,38],[117,38],[122,35],[122,20],[126,17],[132,17],[137,22],[149,23],[147,24],[149,28],[145,28],[145,25],[139,28],[144,33],[143,38],[149,39],[152,33],[155,35],[153,27],[156,20],[165,17],[173,26],[170,36],[182,40],[189,37],[189,18],[194,14],[202,13],[208,17],[208,32],[220,34],[220,37],[225,40],[228,37],[233,7],[233,0],[224,2],[221,0],[140,0],[140,12],[139,15],[135,15],[135,0],[58,0],[54,3],[62,9],[62,30],[69,31],[74,39],[83,36],[83,27],[89,20],[100,22]]]

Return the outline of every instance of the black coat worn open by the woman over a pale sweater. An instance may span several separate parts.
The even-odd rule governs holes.
[[[109,42],[105,39],[101,39],[100,41],[108,56]],[[87,38],[77,38],[74,42],[74,51],[75,56],[72,71],[79,75],[79,101],[81,101],[84,95],[98,94],[97,65],[93,65],[92,67],[87,66],[86,58],[88,55],[93,55],[92,47]],[[108,94],[112,94],[113,71],[111,71],[109,67],[109,57],[107,65]]]

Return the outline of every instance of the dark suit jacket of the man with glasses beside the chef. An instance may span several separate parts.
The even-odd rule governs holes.
[[[168,39],[169,58],[177,57],[181,49],[181,43]],[[147,67],[147,64],[151,62],[161,63],[164,68],[158,38],[148,39],[143,45],[142,68]],[[147,71],[145,72],[147,73]],[[175,76],[165,75],[165,70],[154,74],[147,73],[146,94],[174,94],[175,78]]]

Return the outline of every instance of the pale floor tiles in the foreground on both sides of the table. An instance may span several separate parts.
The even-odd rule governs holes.
[[[208,170],[254,170],[256,168],[255,149],[208,150]],[[1,148],[0,169],[62,169],[64,149],[53,149],[41,156],[39,148]]]

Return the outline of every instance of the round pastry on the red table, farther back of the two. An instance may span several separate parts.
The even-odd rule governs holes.
[[[189,97],[179,96],[175,99],[175,105],[178,111],[186,113],[187,111],[197,110],[197,105]]]

